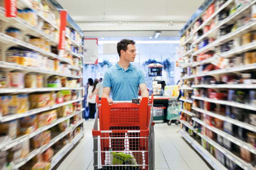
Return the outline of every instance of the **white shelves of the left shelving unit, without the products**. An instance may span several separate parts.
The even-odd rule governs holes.
[[[59,16],[59,11],[58,9],[54,8],[54,5],[51,4],[51,2],[48,2],[48,0],[42,0],[42,3],[49,5],[49,8],[51,10],[52,13],[55,14],[56,17]],[[17,0],[17,8],[18,9],[32,9],[34,10],[35,14],[37,15],[38,19],[42,20],[45,23],[48,23],[51,25],[51,27],[55,30],[55,31],[59,31],[60,26],[57,24],[58,21],[53,20],[53,19],[49,19],[49,17],[47,18],[46,14],[43,11],[40,11],[37,8],[34,8],[34,6],[32,5],[32,2],[29,0]],[[62,91],[62,90],[75,90],[77,92],[76,96],[77,98],[72,98],[69,99],[65,102],[62,103],[58,103],[58,104],[54,104],[52,106],[45,106],[45,107],[41,107],[41,108],[37,108],[37,109],[32,109],[23,113],[19,113],[19,114],[10,114],[7,116],[2,116],[0,115],[0,123],[8,123],[9,121],[13,121],[13,120],[18,120],[20,118],[24,118],[24,117],[28,117],[31,115],[36,115],[45,111],[50,111],[52,109],[58,109],[60,107],[66,106],[68,104],[72,104],[72,103],[77,103],[80,102],[82,103],[82,101],[84,100],[83,97],[83,86],[82,86],[82,80],[79,80],[81,78],[83,78],[82,76],[82,38],[83,35],[81,33],[79,33],[79,29],[77,29],[76,27],[72,26],[70,23],[67,22],[67,27],[71,28],[72,30],[74,30],[75,33],[75,39],[72,39],[69,35],[66,35],[66,38],[69,39],[71,41],[71,45],[74,46],[75,48],[78,48],[77,53],[69,50],[66,47],[66,52],[68,54],[70,54],[73,58],[65,58],[65,56],[62,55],[58,55],[56,54],[57,52],[55,52],[53,50],[53,52],[50,51],[46,51],[44,49],[41,49],[39,47],[36,47],[30,43],[28,43],[29,41],[24,40],[24,36],[25,35],[29,35],[29,36],[33,36],[33,37],[37,37],[37,38],[41,38],[44,39],[46,42],[49,42],[49,44],[55,48],[57,48],[58,46],[58,40],[56,40],[53,36],[53,34],[47,34],[46,32],[44,32],[43,30],[41,30],[39,27],[37,26],[32,26],[30,23],[28,23],[27,21],[23,20],[22,18],[19,17],[14,17],[14,18],[7,18],[5,17],[5,8],[2,6],[0,7],[0,21],[1,21],[1,32],[0,32],[0,42],[1,42],[1,57],[0,57],[0,72],[11,72],[11,71],[19,71],[22,72],[24,74],[33,72],[33,73],[38,73],[40,75],[42,75],[44,77],[44,86],[43,88],[0,88],[0,94],[1,96],[7,96],[7,95],[17,95],[17,94],[29,94],[29,93],[43,93],[43,92],[54,92],[54,91]],[[11,37],[9,35],[6,34],[6,29],[8,27],[15,27],[17,29],[20,30],[21,32],[21,39],[17,39],[14,37]],[[51,30],[51,32],[53,32]],[[26,41],[26,42],[25,42]],[[28,51],[32,51],[32,52],[37,52],[39,54],[41,54],[44,57],[47,57],[48,59],[51,60],[58,60],[60,63],[65,64],[65,71],[53,71],[53,70],[57,70],[57,69],[47,69],[45,67],[30,67],[30,66],[23,66],[17,63],[11,63],[11,62],[7,62],[6,60],[6,54],[5,52],[10,48],[10,47],[18,47],[21,49],[25,49]],[[77,49],[75,50],[77,51]],[[60,53],[60,51],[59,51]],[[79,64],[74,65],[73,66],[73,60],[74,58],[79,58]],[[76,61],[77,62],[77,61]],[[64,70],[64,69],[63,69]],[[71,84],[70,86],[68,86],[66,83],[65,86],[62,86],[60,88],[48,88],[46,86],[47,84],[47,78],[50,76],[59,76],[59,77],[65,77],[68,78],[69,80],[76,80],[76,84]],[[77,81],[78,79],[78,81]],[[25,81],[25,80],[24,80]],[[72,82],[73,83],[73,82]],[[82,104],[81,104],[82,106]],[[76,108],[76,107],[75,107]],[[58,142],[59,140],[61,140],[62,138],[66,137],[67,134],[71,134],[71,132],[73,133],[75,130],[78,133],[79,128],[77,127],[83,127],[82,130],[80,131],[80,133],[78,133],[76,136],[73,136],[74,138],[67,143],[65,146],[63,146],[62,149],[60,149],[58,152],[54,153],[54,156],[52,158],[51,161],[51,169],[54,168],[54,166],[65,156],[65,154],[70,151],[75,144],[83,137],[84,134],[84,120],[83,119],[75,119],[76,121],[70,121],[70,119],[73,120],[73,118],[75,117],[82,117],[82,112],[84,111],[83,106],[80,108],[77,108],[73,111],[72,114],[69,114],[68,116],[65,117],[57,117],[57,119],[55,121],[53,121],[51,124],[47,124],[45,126],[42,126],[40,128],[37,128],[35,130],[33,130],[32,132],[28,133],[28,134],[23,134],[21,136],[17,136],[14,139],[8,138],[7,140],[4,140],[3,142],[0,143],[0,151],[7,151],[9,152],[9,149],[17,146],[18,144],[21,144],[24,141],[28,141],[31,138],[36,137],[38,134],[46,131],[46,130],[50,130],[51,128],[57,126],[58,124],[67,121],[70,124],[67,124],[67,128],[65,131],[63,132],[57,132],[58,134],[52,134],[52,139],[50,140],[49,143],[44,144],[43,146],[36,148],[36,149],[31,149],[30,148],[30,152],[29,154],[25,157],[25,158],[20,158],[20,160],[16,160],[15,163],[10,162],[10,165],[8,167],[8,169],[11,170],[18,170],[21,166],[26,165],[26,163],[31,160],[32,158],[34,158],[37,154],[43,153],[44,151],[46,151],[48,148],[52,147],[56,142]],[[2,140],[1,140],[2,141]],[[1,165],[2,166],[2,165]],[[2,167],[0,167],[2,168]]]

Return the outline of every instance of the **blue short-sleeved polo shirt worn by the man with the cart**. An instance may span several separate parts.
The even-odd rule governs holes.
[[[130,64],[129,68],[124,70],[117,63],[105,72],[102,86],[111,88],[114,101],[127,101],[138,98],[141,83],[146,83],[141,69]]]

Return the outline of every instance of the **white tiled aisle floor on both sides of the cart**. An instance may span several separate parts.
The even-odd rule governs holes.
[[[86,121],[84,138],[55,167],[56,170],[93,170],[93,121]],[[207,164],[179,136],[180,126],[155,125],[155,168],[162,170],[210,170]]]

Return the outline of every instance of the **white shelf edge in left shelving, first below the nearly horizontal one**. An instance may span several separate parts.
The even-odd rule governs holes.
[[[74,102],[82,101],[82,100],[83,100],[83,98],[80,98],[80,99],[71,100],[71,101],[67,101],[67,102],[63,102],[63,103],[59,103],[59,104],[54,104],[53,106],[49,106],[49,107],[43,107],[43,108],[29,110],[28,112],[25,112],[25,113],[3,116],[3,117],[0,117],[0,122],[7,122],[7,121],[27,117],[27,116],[30,116],[30,115],[33,115],[33,114],[37,114],[37,113],[44,112],[44,111],[47,111],[47,110],[55,109],[55,108],[65,106],[67,104],[71,104],[71,103],[74,103]]]

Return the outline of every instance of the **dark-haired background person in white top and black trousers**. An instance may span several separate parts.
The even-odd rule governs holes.
[[[96,94],[92,95],[93,91],[96,88],[96,85],[98,84],[98,81],[94,81],[92,86],[89,86],[88,88],[88,95],[87,95],[87,99],[86,99],[86,106],[89,106],[89,120],[90,119],[94,119],[94,115],[96,112]],[[91,96],[91,98],[90,98]]]

